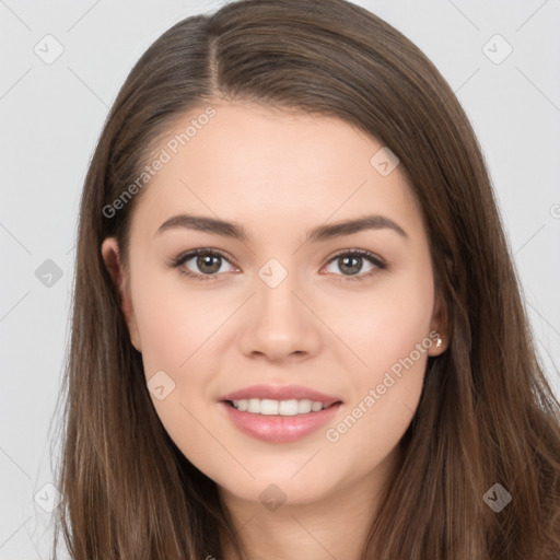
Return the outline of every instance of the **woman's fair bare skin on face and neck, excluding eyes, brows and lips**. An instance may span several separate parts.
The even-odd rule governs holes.
[[[382,144],[347,122],[242,103],[212,106],[215,117],[137,201],[128,267],[115,238],[103,243],[103,257],[147,380],[163,370],[175,383],[163,400],[152,396],[158,415],[185,456],[218,483],[250,558],[358,559],[418,406],[428,355],[446,348],[422,215],[400,166],[382,176],[370,164]],[[200,112],[185,115],[170,138]],[[156,233],[182,212],[238,222],[249,238],[185,228]],[[304,243],[311,228],[364,213],[389,218],[407,236],[380,229]],[[196,248],[226,255],[215,278],[198,281],[167,266]],[[375,266],[363,259],[354,273],[363,281],[349,281],[334,258],[342,249],[369,250],[389,266],[365,278]],[[276,288],[258,276],[270,258],[288,271]],[[203,275],[196,258],[187,267]],[[432,330],[443,345],[432,343],[351,429],[328,441],[326,429]],[[257,383],[305,385],[342,406],[335,421],[300,441],[262,442],[240,432],[218,404]],[[287,497],[276,511],[259,500],[270,483]]]

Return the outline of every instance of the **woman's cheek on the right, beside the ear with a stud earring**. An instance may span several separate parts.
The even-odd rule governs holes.
[[[431,267],[419,261],[346,298],[337,312],[325,304],[331,310],[327,320],[345,342],[339,361],[348,364],[349,388],[342,421],[329,427],[327,441],[345,441],[339,448],[360,445],[377,460],[400,440],[418,406],[433,345],[433,298]]]

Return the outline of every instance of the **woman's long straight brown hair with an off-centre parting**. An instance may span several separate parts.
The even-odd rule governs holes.
[[[241,555],[217,485],[154,411],[100,250],[116,235],[126,259],[141,192],[110,215],[107,206],[177,118],[217,98],[343,119],[398,156],[422,208],[450,346],[429,359],[362,558],[557,560],[560,405],[536,357],[479,144],[427,57],[345,0],[244,0],[188,18],[118,94],[80,211],[59,480],[72,558],[219,558],[220,535]],[[485,500],[497,483],[512,497],[499,512]]]

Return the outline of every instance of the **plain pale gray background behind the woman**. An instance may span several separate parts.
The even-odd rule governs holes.
[[[469,115],[560,396],[560,1],[357,3],[411,38]],[[161,33],[219,5],[0,0],[0,559],[49,556],[57,491],[44,485],[52,481],[78,203],[108,107]],[[63,52],[46,63],[57,44]]]

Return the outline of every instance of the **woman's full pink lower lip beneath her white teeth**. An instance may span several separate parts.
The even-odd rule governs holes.
[[[221,401],[230,420],[247,435],[272,443],[295,442],[315,432],[332,420],[341,402],[324,408],[318,412],[296,416],[268,416],[242,412],[228,402]]]

